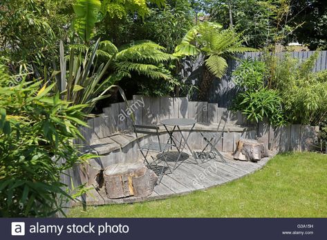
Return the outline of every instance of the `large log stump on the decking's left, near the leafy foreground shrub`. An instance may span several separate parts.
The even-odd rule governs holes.
[[[109,199],[147,197],[158,180],[156,173],[140,162],[111,165],[103,170],[102,176],[102,181],[99,175],[96,180]]]

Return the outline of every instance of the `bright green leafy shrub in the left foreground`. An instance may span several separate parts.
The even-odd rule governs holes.
[[[94,157],[81,154],[73,139],[86,126],[85,105],[71,106],[53,92],[55,83],[17,82],[0,71],[0,215],[50,217],[73,199],[60,175],[75,163]],[[63,160],[65,159],[65,161]]]

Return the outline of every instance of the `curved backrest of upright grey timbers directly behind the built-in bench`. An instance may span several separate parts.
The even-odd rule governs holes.
[[[188,101],[186,97],[144,97],[134,95],[133,100],[126,103],[112,103],[103,109],[97,117],[88,119],[89,128],[81,128],[90,144],[115,132],[131,131],[133,121],[129,113],[133,112],[135,123],[150,125],[160,123],[160,119],[190,118],[199,123],[218,123],[224,111],[228,113],[230,124],[247,126],[241,112],[232,112],[226,108],[218,108],[216,103]],[[250,124],[250,123],[249,123]]]

